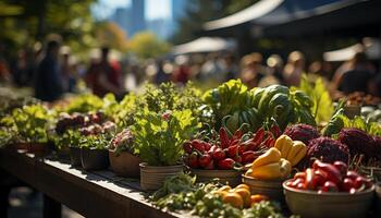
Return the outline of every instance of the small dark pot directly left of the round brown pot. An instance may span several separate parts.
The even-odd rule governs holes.
[[[81,148],[81,162],[85,170],[103,170],[109,167],[107,149]]]

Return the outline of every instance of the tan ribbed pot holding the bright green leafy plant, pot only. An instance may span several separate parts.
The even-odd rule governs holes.
[[[139,166],[140,187],[145,191],[159,190],[167,178],[183,171],[183,165],[153,167],[142,162]]]

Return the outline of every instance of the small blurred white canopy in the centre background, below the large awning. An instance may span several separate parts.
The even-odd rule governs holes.
[[[233,39],[223,39],[219,37],[201,37],[193,41],[175,46],[172,52],[174,55],[183,55],[234,50],[235,48],[236,41]]]

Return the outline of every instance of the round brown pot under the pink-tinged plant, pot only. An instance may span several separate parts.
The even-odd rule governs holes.
[[[112,171],[118,175],[128,178],[139,178],[140,159],[128,152],[116,154],[114,150],[109,150],[109,159]]]

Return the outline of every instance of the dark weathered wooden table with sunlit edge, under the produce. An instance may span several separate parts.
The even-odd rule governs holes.
[[[138,180],[111,171],[86,172],[69,164],[0,149],[0,167],[45,195],[45,217],[61,216],[61,204],[85,217],[188,217],[152,207]]]

